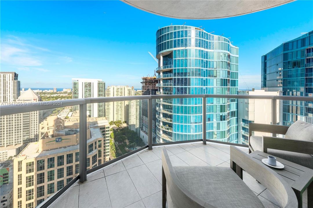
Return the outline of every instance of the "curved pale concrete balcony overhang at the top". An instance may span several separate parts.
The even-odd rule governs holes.
[[[122,0],[156,15],[176,19],[219,19],[278,7],[294,0]]]

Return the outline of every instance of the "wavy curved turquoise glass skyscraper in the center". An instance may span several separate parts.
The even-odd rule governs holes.
[[[237,94],[239,49],[198,27],[156,31],[157,94]],[[157,99],[157,143],[202,139],[202,98]],[[237,143],[237,100],[207,99],[207,139]]]

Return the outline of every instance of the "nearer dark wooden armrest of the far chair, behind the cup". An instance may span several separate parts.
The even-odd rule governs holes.
[[[267,153],[268,148],[289,152],[313,154],[313,141],[264,136],[263,152]]]

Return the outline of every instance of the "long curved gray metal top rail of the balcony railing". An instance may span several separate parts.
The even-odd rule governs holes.
[[[271,100],[295,100],[295,101],[312,101],[313,97],[305,96],[282,96],[282,95],[238,95],[238,94],[175,94],[175,95],[137,95],[137,96],[117,96],[117,97],[100,97],[100,98],[81,98],[54,100],[44,102],[22,103],[0,105],[0,116],[27,113],[31,111],[61,108],[79,104],[105,103],[116,101],[143,100],[143,99],[160,99],[160,98],[234,98],[234,99],[271,99]],[[16,102],[17,103],[17,102]]]

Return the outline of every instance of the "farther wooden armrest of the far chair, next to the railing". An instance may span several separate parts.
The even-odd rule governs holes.
[[[252,135],[252,131],[265,132],[265,133],[276,133],[286,134],[289,126],[281,126],[274,124],[263,124],[263,123],[249,123],[249,138]]]

